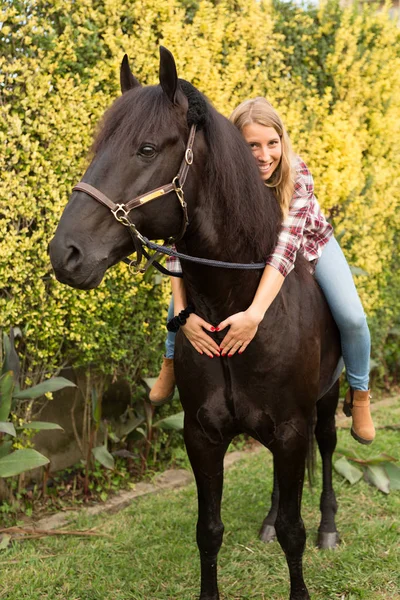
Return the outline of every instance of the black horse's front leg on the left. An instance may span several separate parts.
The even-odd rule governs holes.
[[[213,443],[197,423],[190,425],[187,422],[184,437],[197,484],[200,600],[218,600],[217,556],[224,532],[221,520],[224,456],[232,438]]]

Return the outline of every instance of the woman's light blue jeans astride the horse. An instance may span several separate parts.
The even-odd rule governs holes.
[[[324,292],[340,331],[347,381],[355,390],[368,390],[371,340],[367,319],[349,265],[333,236],[318,260],[315,279]],[[173,316],[174,304],[171,298],[168,320]],[[167,358],[174,357],[175,335],[168,332],[165,342]]]

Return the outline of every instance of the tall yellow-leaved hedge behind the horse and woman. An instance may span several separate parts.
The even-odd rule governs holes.
[[[400,34],[386,12],[267,0],[18,0],[0,8],[0,326],[32,370],[153,371],[168,286],[111,269],[97,290],[55,281],[47,244],[119,92],[126,52],[157,82],[158,45],[224,114],[265,95],[308,162],[370,317],[376,355],[399,314]],[[387,347],[389,347],[387,346]],[[386,353],[386,354],[385,354]]]

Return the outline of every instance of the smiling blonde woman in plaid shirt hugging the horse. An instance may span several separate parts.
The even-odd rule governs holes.
[[[235,352],[241,354],[256,335],[258,325],[285,277],[294,268],[297,252],[301,252],[310,263],[316,264],[315,278],[340,331],[350,386],[344,411],[353,418],[351,433],[358,442],[370,444],[375,429],[369,400],[369,329],[347,261],[314,195],[312,175],[300,157],[293,154],[284,125],[265,98],[246,100],[233,111],[230,120],[249,144],[265,185],[275,192],[283,215],[282,229],[273,254],[267,257],[249,308],[231,315],[217,326],[192,314],[182,330],[194,348],[210,358],[230,357]],[[176,259],[170,259],[167,266],[175,272],[181,270]],[[169,318],[187,305],[181,279],[172,278],[172,291],[174,302]],[[228,327],[220,347],[206,333]],[[174,390],[173,346],[174,334],[169,334],[163,367],[150,395],[155,405],[169,399]]]

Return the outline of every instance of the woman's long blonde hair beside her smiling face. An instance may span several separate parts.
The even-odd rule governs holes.
[[[282,144],[282,157],[277,169],[265,184],[275,188],[275,193],[285,218],[289,211],[290,201],[294,192],[294,155],[287,131],[282,119],[265,98],[258,97],[245,100],[235,108],[229,120],[242,132],[243,127],[257,123],[265,127],[273,127]]]

